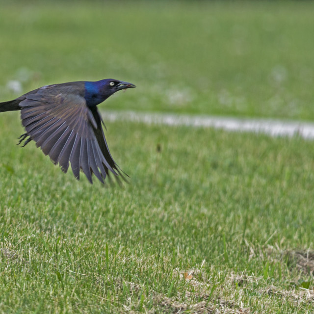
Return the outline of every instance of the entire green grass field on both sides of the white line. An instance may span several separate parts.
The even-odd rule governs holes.
[[[113,77],[111,109],[313,120],[311,2],[73,3],[1,3],[1,100]],[[313,142],[106,123],[104,188],[0,126],[0,313],[314,312]]]

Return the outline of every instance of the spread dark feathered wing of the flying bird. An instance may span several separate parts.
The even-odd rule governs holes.
[[[109,153],[99,112],[90,110],[83,97],[39,89],[26,95],[20,106],[27,134],[64,172],[71,163],[75,177],[79,179],[82,169],[91,183],[92,173],[102,183],[109,171],[120,173]]]

